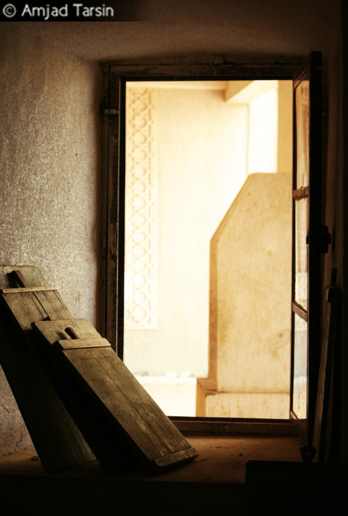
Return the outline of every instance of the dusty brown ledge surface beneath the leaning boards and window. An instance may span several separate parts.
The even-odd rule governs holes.
[[[193,483],[244,483],[249,460],[301,462],[301,442],[294,435],[286,437],[231,437],[219,435],[185,435],[199,455],[196,460],[160,475],[150,474],[145,467],[133,471],[106,473],[98,462],[54,474],[75,478],[122,478],[122,480],[155,480]],[[0,458],[0,475],[51,476],[46,474],[35,448]]]

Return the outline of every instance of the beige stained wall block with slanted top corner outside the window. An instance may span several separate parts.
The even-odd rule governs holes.
[[[197,416],[287,419],[292,185],[248,176],[210,245],[209,377]]]

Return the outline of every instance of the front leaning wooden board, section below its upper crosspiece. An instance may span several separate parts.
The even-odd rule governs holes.
[[[152,469],[174,465],[171,455],[177,451],[188,450],[180,460],[197,456],[111,347],[64,351],[63,355],[86,382],[83,385],[86,393],[97,395],[101,411],[108,419],[112,415],[118,421],[123,435],[131,439],[136,451]],[[162,459],[159,464],[158,458]]]

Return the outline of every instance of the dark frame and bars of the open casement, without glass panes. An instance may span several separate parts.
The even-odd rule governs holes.
[[[303,80],[309,81],[309,129],[308,129],[308,185],[297,185],[296,150],[296,88]],[[303,441],[311,446],[315,425],[315,405],[317,400],[320,343],[322,333],[322,254],[324,249],[322,228],[322,55],[312,52],[293,81],[293,216],[292,216],[292,356],[290,420],[296,426]],[[298,201],[308,202],[308,307],[295,300],[295,206]],[[307,325],[307,407],[306,419],[299,419],[294,410],[294,315],[298,315]]]

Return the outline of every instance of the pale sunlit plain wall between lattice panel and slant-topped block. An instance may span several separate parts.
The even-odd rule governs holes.
[[[207,374],[209,242],[247,174],[248,107],[223,91],[152,91],[156,327],[125,331],[134,373]]]

